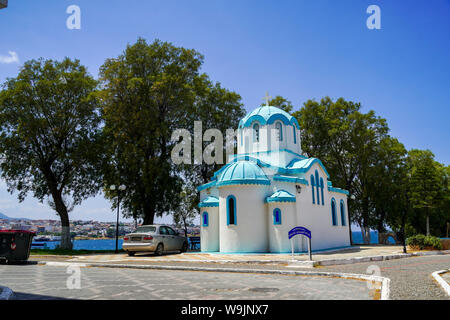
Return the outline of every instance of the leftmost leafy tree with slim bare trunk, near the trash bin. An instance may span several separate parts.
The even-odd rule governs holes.
[[[8,191],[49,199],[70,249],[69,210],[97,194],[101,137],[97,87],[78,60],[31,60],[0,92],[0,164]]]

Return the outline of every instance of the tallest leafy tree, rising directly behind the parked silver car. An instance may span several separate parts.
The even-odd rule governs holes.
[[[203,57],[195,50],[159,40],[128,45],[100,69],[102,116],[108,153],[105,194],[125,184],[125,214],[152,224],[172,212],[182,179],[170,156],[172,132],[182,128],[195,101],[195,82]]]

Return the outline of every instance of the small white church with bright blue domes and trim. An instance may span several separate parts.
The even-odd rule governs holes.
[[[200,191],[201,251],[289,253],[288,232],[311,231],[312,250],[350,246],[348,192],[332,186],[319,159],[302,155],[300,126],[263,106],[239,123],[237,154]],[[304,236],[294,251],[308,250]]]

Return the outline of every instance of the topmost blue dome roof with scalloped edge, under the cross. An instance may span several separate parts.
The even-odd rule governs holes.
[[[258,121],[261,125],[266,125],[272,124],[276,120],[282,121],[285,125],[295,124],[297,129],[300,129],[300,125],[295,117],[280,108],[271,106],[259,107],[247,114],[239,122],[239,128],[249,127],[254,121]]]

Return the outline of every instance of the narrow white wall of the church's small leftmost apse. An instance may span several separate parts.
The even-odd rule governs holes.
[[[203,213],[208,213],[208,226],[203,226]],[[200,208],[200,248],[202,252],[219,251],[219,207]]]

